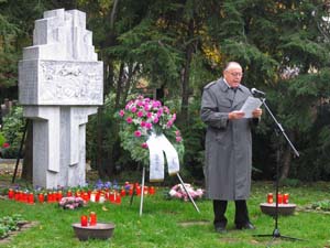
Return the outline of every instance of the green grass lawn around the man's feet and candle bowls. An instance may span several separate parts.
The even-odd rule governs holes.
[[[299,187],[280,187],[290,194],[290,202],[304,208],[314,202],[330,198],[330,183],[315,183]],[[37,222],[32,228],[12,236],[7,248],[66,248],[66,247],[122,247],[122,248],[213,248],[213,247],[267,247],[272,237],[274,219],[260,211],[258,204],[265,202],[266,194],[274,192],[268,182],[254,182],[249,200],[250,217],[255,230],[235,230],[233,225],[234,206],[228,208],[228,233],[217,234],[212,226],[212,204],[197,201],[200,214],[189,202],[165,200],[168,188],[158,188],[156,195],[144,198],[143,215],[140,217],[140,198],[130,205],[124,197],[121,205],[110,203],[89,203],[76,211],[61,209],[56,204],[26,205],[13,201],[0,201],[0,217],[21,214],[26,220]],[[79,222],[82,214],[96,212],[99,222],[113,222],[114,235],[109,240],[79,241],[75,238],[72,224]],[[330,215],[297,211],[290,216],[279,216],[278,229],[282,236],[290,236],[304,241],[288,241],[276,238],[272,247],[319,248],[330,247]]]

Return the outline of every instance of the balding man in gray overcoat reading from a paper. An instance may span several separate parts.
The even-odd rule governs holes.
[[[206,134],[206,191],[213,201],[215,228],[224,233],[228,201],[235,203],[235,227],[254,229],[249,219],[246,200],[251,187],[252,137],[251,128],[257,125],[262,109],[252,118],[240,111],[250,90],[241,85],[242,67],[230,62],[223,76],[204,88],[201,119],[207,123]]]

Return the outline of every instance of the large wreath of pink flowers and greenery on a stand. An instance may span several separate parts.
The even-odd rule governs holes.
[[[121,129],[119,136],[121,145],[131,153],[136,162],[148,165],[148,148],[146,140],[154,132],[165,134],[178,153],[179,160],[184,155],[184,143],[180,131],[175,127],[176,114],[161,101],[138,96],[128,101],[124,109],[119,111]]]

